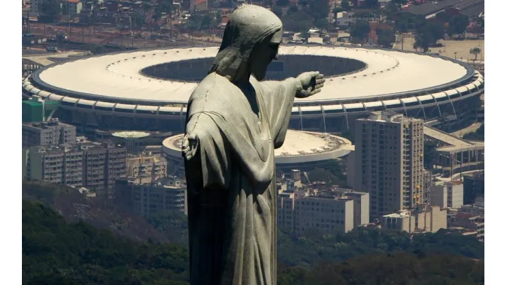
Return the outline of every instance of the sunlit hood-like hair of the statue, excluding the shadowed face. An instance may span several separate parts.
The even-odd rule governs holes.
[[[238,80],[247,71],[253,47],[264,38],[282,29],[282,21],[273,12],[257,5],[241,5],[232,12],[219,53],[209,73],[217,73]]]

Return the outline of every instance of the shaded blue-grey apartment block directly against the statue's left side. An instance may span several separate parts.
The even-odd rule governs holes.
[[[187,214],[186,184],[175,177],[161,178],[148,183],[123,177],[116,180],[114,201],[132,209],[136,214],[149,216],[160,211]]]

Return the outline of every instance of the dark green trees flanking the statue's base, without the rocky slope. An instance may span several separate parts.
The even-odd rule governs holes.
[[[470,238],[442,233],[415,236],[410,243],[406,234],[367,229],[314,238],[294,240],[281,234],[277,284],[379,284],[380,280],[484,284],[483,262],[465,257],[482,258],[484,247]],[[307,269],[293,267],[296,264]],[[41,203],[23,202],[23,284],[183,285],[187,280],[184,246],[119,238],[82,221],[66,223]]]

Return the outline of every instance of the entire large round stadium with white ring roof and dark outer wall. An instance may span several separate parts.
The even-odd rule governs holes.
[[[186,103],[218,47],[108,53],[45,66],[23,80],[23,96],[58,101],[61,121],[85,132],[183,131]],[[290,128],[346,132],[369,112],[434,120],[475,114],[484,77],[439,55],[324,46],[282,46],[269,79],[321,71],[317,95],[296,99]]]

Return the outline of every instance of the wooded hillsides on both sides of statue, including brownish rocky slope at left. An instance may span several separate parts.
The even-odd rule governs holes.
[[[144,221],[101,199],[23,182],[23,284],[188,284],[184,215]],[[484,283],[483,262],[474,261],[483,260],[484,245],[475,238],[368,228],[306,236],[279,230],[277,284]],[[419,281],[423,275],[432,277]]]

